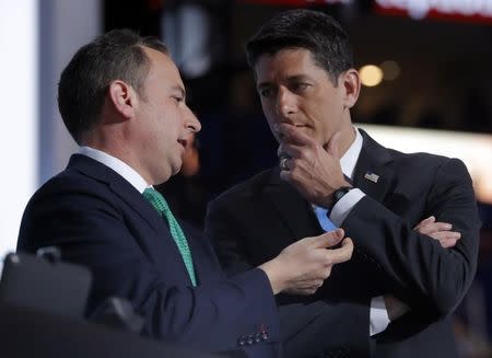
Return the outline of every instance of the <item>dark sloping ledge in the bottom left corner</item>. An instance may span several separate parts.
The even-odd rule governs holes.
[[[220,358],[35,309],[0,304],[2,358]],[[227,356],[225,356],[227,357]]]

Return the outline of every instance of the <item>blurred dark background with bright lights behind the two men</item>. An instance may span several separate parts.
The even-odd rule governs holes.
[[[15,249],[31,195],[77,150],[56,85],[81,45],[129,27],[169,46],[202,131],[161,189],[200,228],[208,200],[277,163],[243,46],[296,7],[329,13],[349,33],[364,83],[358,125],[388,147],[467,164],[483,228],[456,333],[464,357],[492,357],[492,0],[0,0],[0,256]]]

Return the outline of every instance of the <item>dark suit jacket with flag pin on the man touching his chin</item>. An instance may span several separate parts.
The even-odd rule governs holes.
[[[405,154],[361,134],[363,147],[353,184],[366,196],[341,226],[352,238],[354,252],[350,262],[335,265],[315,299],[333,304],[360,299],[368,311],[371,298],[393,293],[411,311],[373,337],[374,357],[457,357],[448,315],[473,279],[479,247],[480,221],[470,176],[459,160]],[[443,249],[413,230],[431,215],[461,233],[456,246]],[[280,180],[278,168],[213,200],[206,227],[231,273],[244,272],[296,240],[323,232],[309,203]],[[280,296],[279,304],[306,299],[313,300]],[[338,332],[350,322],[331,324],[326,322],[327,331]],[[365,330],[368,337],[368,323]],[[338,356],[353,357],[354,351],[345,348]]]

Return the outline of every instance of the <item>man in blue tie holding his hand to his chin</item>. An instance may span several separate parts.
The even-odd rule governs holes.
[[[332,18],[283,12],[246,51],[280,169],[209,205],[206,231],[224,268],[244,272],[300,238],[341,227],[354,241],[352,259],[320,289],[289,290],[278,303],[359,300],[374,357],[457,357],[448,315],[472,281],[480,226],[465,165],[384,148],[352,125],[360,78]],[[327,334],[333,330],[327,323]]]

